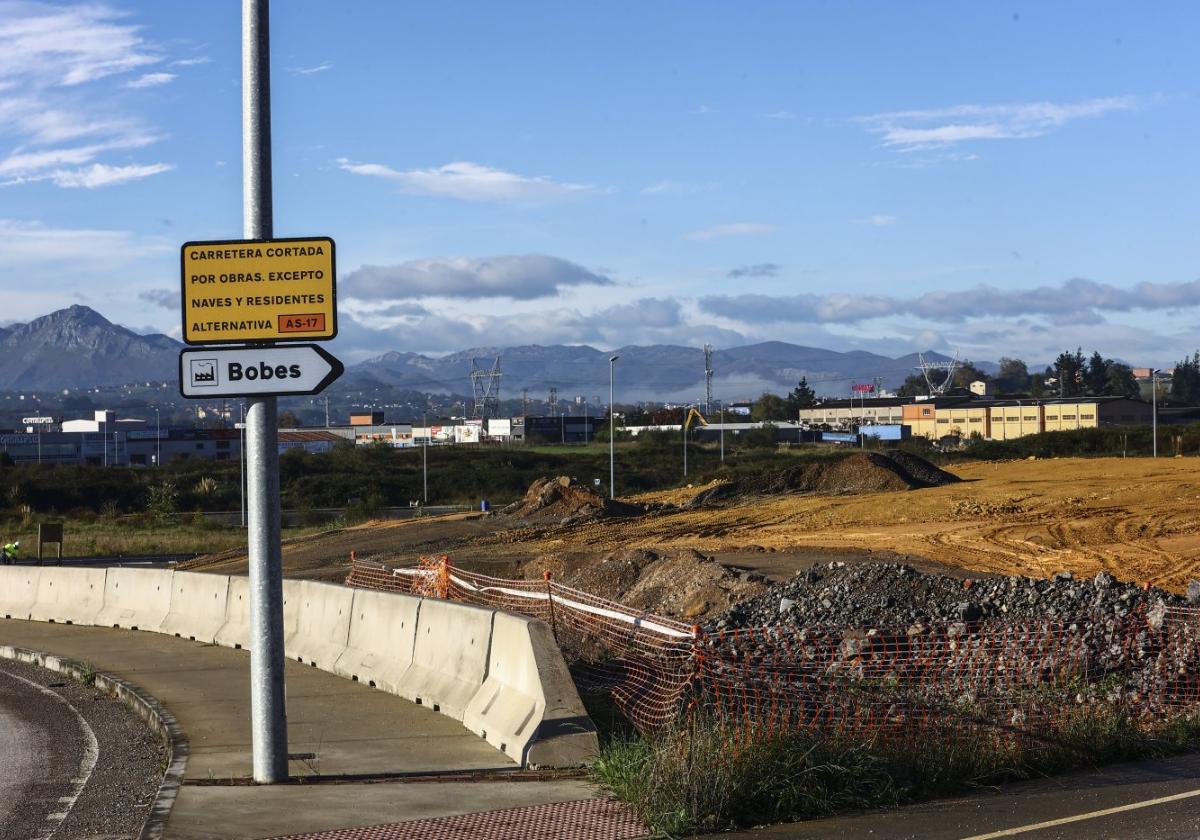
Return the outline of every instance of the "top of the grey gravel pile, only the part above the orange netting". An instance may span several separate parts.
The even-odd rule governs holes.
[[[1084,620],[1124,618],[1186,600],[1157,588],[1122,583],[1106,572],[1076,580],[1060,572],[1031,577],[958,578],[900,563],[829,563],[733,606],[714,629],[752,626],[906,628],[917,623]]]

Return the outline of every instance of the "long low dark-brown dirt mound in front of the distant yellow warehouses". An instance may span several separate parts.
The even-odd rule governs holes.
[[[815,461],[734,479],[697,494],[686,506],[721,505],[756,496],[787,493],[882,493],[938,487],[958,480],[958,476],[908,452],[854,452],[836,461]]]

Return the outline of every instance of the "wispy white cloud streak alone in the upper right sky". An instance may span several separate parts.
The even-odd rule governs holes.
[[[944,149],[972,140],[1008,140],[1042,137],[1067,122],[1134,110],[1133,96],[1109,96],[1082,102],[1021,102],[960,104],[950,108],[898,110],[858,118],[883,145],[911,152]]]

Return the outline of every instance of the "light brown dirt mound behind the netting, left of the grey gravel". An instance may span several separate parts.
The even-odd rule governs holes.
[[[628,548],[600,560],[576,563],[548,554],[529,560],[521,574],[526,580],[541,580],[544,571],[564,586],[685,622],[724,613],[761,595],[768,586],[762,575],[732,571],[691,550],[659,553]]]

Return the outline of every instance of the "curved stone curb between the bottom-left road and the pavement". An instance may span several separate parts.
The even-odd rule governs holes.
[[[163,774],[162,785],[158,786],[158,796],[155,797],[150,816],[146,817],[146,822],[142,827],[142,833],[138,834],[138,840],[161,840],[167,828],[167,820],[170,817],[170,809],[175,804],[179,787],[184,784],[184,768],[187,767],[187,756],[190,752],[187,736],[184,734],[184,731],[179,727],[179,721],[167,710],[167,707],[137,685],[118,677],[97,672],[84,662],[40,650],[18,648],[11,644],[0,644],[0,659],[12,659],[19,662],[38,665],[48,671],[66,674],[82,683],[90,682],[133,709],[163,739],[169,751],[167,772]]]

